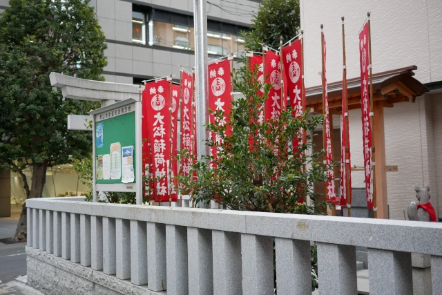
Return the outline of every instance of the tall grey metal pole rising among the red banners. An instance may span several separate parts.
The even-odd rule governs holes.
[[[193,0],[195,10],[193,21],[195,27],[195,84],[196,87],[196,137],[198,159],[207,155],[209,146],[205,140],[209,138],[209,132],[204,125],[209,122],[209,77],[207,75],[207,17],[206,0]]]

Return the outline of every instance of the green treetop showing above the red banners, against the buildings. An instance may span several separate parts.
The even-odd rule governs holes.
[[[261,51],[261,43],[265,43],[278,48],[280,36],[288,41],[300,32],[299,0],[264,0],[252,22],[251,30],[241,33],[245,47]]]

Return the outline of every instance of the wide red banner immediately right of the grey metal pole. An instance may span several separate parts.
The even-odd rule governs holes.
[[[211,113],[209,120],[212,124],[218,124],[218,126],[224,126],[230,118],[232,107],[230,73],[229,59],[209,64],[209,108],[213,112],[221,111],[223,114],[223,117],[220,119]],[[230,134],[231,126],[227,126],[226,135]],[[218,145],[222,144],[222,139],[218,135],[211,134],[211,138]],[[220,149],[220,147],[211,146],[211,155],[215,158],[218,154],[217,149]]]

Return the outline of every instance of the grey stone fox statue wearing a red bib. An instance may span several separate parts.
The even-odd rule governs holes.
[[[428,184],[425,184],[424,188],[421,189],[421,187],[416,184],[416,186],[414,187],[414,191],[416,191],[416,198],[419,203],[413,201],[408,205],[408,219],[436,222],[436,213],[434,212],[434,208],[430,203],[430,186]]]

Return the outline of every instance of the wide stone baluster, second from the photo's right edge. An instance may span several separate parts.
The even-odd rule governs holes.
[[[371,295],[412,295],[412,256],[410,253],[368,249]]]

